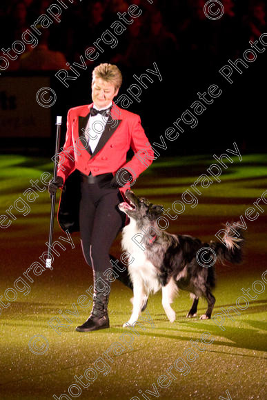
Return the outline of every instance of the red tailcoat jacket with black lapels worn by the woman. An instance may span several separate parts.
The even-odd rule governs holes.
[[[154,152],[141,126],[139,115],[119,108],[112,102],[110,116],[94,152],[90,153],[86,132],[92,103],[70,108],[68,111],[66,142],[59,153],[57,174],[63,178],[65,190],[61,193],[58,221],[63,230],[79,230],[79,201],[81,199],[80,174],[113,175],[120,168],[130,172],[133,179],[146,170],[154,159]],[[132,148],[135,155],[126,162],[126,154]],[[119,188],[122,196],[130,189],[129,182]],[[123,196],[124,197],[124,196]]]

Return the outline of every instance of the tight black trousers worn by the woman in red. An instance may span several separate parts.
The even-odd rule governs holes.
[[[79,208],[81,246],[86,263],[98,272],[112,268],[109,250],[123,228],[126,218],[118,208],[118,204],[123,201],[119,189],[110,187],[112,177],[112,174],[102,174],[97,177],[81,175]],[[119,265],[121,266],[121,263]],[[117,270],[116,273],[119,274]],[[127,269],[121,274],[121,279],[118,279],[129,286],[128,279],[125,281],[126,276]]]

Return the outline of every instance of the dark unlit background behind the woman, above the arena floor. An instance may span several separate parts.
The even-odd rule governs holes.
[[[15,40],[21,40],[21,34],[41,14],[49,15],[46,10],[52,3],[56,2],[2,0],[1,48],[11,47]],[[115,35],[119,43],[114,49],[102,45],[105,51],[94,63],[88,61],[87,70],[77,68],[81,76],[76,81],[68,81],[69,88],[65,88],[55,77],[57,70],[50,70],[49,62],[45,70],[34,64],[23,65],[21,59],[30,46],[19,59],[10,61],[10,68],[1,72],[1,94],[8,91],[4,86],[5,77],[22,76],[30,81],[31,77],[48,76],[50,87],[57,93],[57,102],[49,109],[52,116],[49,138],[39,137],[37,115],[34,139],[28,138],[27,129],[24,137],[15,140],[8,137],[8,130],[1,130],[2,153],[52,154],[56,115],[63,115],[63,141],[68,108],[91,102],[91,74],[100,62],[116,63],[121,69],[123,85],[119,95],[127,93],[132,83],[137,83],[133,74],[140,76],[147,68],[154,69],[153,63],[157,63],[163,80],[159,82],[158,77],[149,74],[154,83],[148,83],[148,89],[142,90],[140,103],[133,101],[128,108],[140,114],[151,143],[160,143],[157,140],[159,136],[164,135],[182,112],[186,109],[192,111],[190,105],[198,99],[197,92],[206,92],[211,84],[217,84],[222,90],[221,96],[197,116],[198,125],[194,129],[186,126],[185,132],[176,141],[167,141],[168,149],[162,150],[161,154],[213,154],[226,150],[233,145],[233,141],[239,143],[243,154],[265,151],[267,52],[257,54],[257,59],[251,63],[245,61],[248,68],[241,66],[243,74],[234,70],[231,77],[233,84],[219,74],[219,69],[228,64],[228,59],[244,59],[244,50],[250,48],[248,42],[258,40],[260,34],[266,32],[265,2],[222,1],[224,15],[216,21],[205,16],[203,0],[154,1],[152,4],[145,0],[75,0],[71,4],[65,0],[65,3],[68,10],[63,10],[61,22],[55,21],[43,30],[42,41],[47,43],[50,51],[60,52],[70,65],[74,61],[81,63],[81,55],[86,60],[84,51],[93,46],[92,43],[105,30],[113,32],[110,25],[118,20],[117,12],[127,11],[128,6],[135,3],[142,14],[123,34]],[[259,44],[259,47],[262,45]],[[48,61],[52,54],[46,53]],[[25,87],[26,103],[29,95],[32,96],[32,93],[28,94]],[[1,95],[2,111],[4,107]],[[181,126],[184,127],[184,123]]]

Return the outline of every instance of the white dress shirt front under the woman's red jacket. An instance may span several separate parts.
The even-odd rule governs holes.
[[[111,108],[112,102],[103,108],[98,108],[95,106],[95,103],[93,103],[93,108],[96,110],[106,110],[107,108]],[[108,121],[108,117],[106,115],[101,115],[100,113],[97,115],[90,115],[88,119],[88,123],[86,125],[86,130],[85,130],[85,135],[86,139],[88,140],[90,149],[92,152],[95,151],[95,148],[97,147],[97,144],[101,138],[101,134],[103,133],[103,130],[105,129],[106,123]]]

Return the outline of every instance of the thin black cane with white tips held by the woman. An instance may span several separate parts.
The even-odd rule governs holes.
[[[60,141],[60,132],[61,132],[61,123],[62,123],[62,117],[57,116],[57,137],[56,137],[56,148],[55,148],[55,164],[54,164],[54,175],[53,175],[53,180],[57,182],[57,158],[58,158],[58,153],[59,153],[59,141]],[[51,266],[51,246],[52,246],[52,239],[53,239],[53,230],[54,230],[54,218],[55,218],[55,204],[56,204],[56,192],[52,194],[52,201],[51,201],[51,212],[50,212],[50,228],[49,228],[49,246],[48,246],[48,258],[46,259],[46,268],[50,268],[51,270],[53,269]]]

